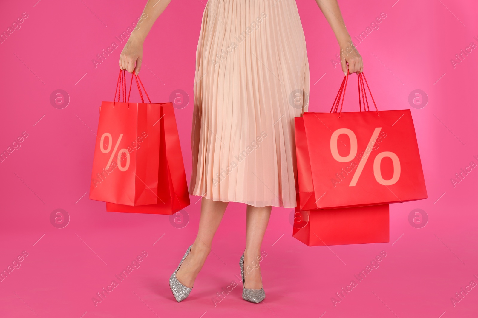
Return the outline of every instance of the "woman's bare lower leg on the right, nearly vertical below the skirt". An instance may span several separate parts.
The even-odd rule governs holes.
[[[244,252],[244,288],[261,289],[261,260],[262,238],[266,232],[272,206],[247,206],[246,215],[246,250]]]

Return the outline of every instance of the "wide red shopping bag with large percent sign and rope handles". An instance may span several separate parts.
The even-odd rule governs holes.
[[[369,105],[362,74],[358,76],[360,112],[342,113],[346,76],[330,113],[295,118],[301,210],[427,198],[410,110],[379,112],[369,89],[376,111],[365,111],[365,104],[367,110]]]

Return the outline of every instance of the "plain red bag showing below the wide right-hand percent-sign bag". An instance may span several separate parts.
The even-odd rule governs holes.
[[[292,236],[308,246],[387,243],[389,205],[301,211],[297,204]]]

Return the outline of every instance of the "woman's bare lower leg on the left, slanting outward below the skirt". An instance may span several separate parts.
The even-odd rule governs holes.
[[[176,273],[181,284],[192,288],[197,274],[206,262],[207,255],[211,251],[211,244],[217,227],[221,223],[222,216],[226,211],[228,202],[217,202],[202,198],[201,217],[199,219],[199,230],[194,241],[191,252],[184,260]]]

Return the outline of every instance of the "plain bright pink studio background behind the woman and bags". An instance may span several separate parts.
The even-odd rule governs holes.
[[[229,205],[214,253],[191,296],[178,304],[167,284],[195,238],[199,198],[191,197],[183,211],[189,223],[177,228],[165,215],[107,213],[104,203],[84,195],[98,106],[113,97],[124,43],[97,68],[91,60],[141,15],[145,1],[37,1],[3,1],[0,10],[1,32],[28,14],[21,29],[0,44],[0,151],[28,133],[0,164],[0,269],[28,252],[21,267],[0,282],[1,317],[477,317],[478,287],[455,307],[450,300],[471,280],[478,283],[478,171],[456,187],[450,182],[471,161],[478,163],[477,101],[471,93],[478,51],[455,68],[450,62],[470,42],[478,44],[476,1],[339,1],[352,37],[381,12],[387,15],[357,48],[380,109],[412,109],[429,198],[391,205],[390,243],[383,244],[307,247],[291,236],[292,209],[274,208],[262,246],[267,298],[247,303],[239,285],[216,306],[217,292],[232,280],[239,283],[244,205]],[[154,102],[168,101],[176,89],[189,94],[187,107],[176,109],[188,182],[195,54],[205,2],[172,1],[145,42],[141,71]],[[315,1],[297,5],[310,62],[310,111],[328,111],[343,77],[331,62],[337,42]],[[354,88],[349,96],[356,96]],[[50,104],[56,89],[70,96],[64,109]],[[429,98],[422,109],[408,103],[415,89]],[[137,93],[132,98],[139,100]],[[351,101],[347,110],[356,106]],[[71,218],[64,228],[50,223],[57,208]],[[428,215],[422,228],[408,221],[415,208]],[[143,250],[148,256],[141,267],[95,307],[92,297]],[[380,267],[334,307],[331,297],[380,251],[387,253]]]

